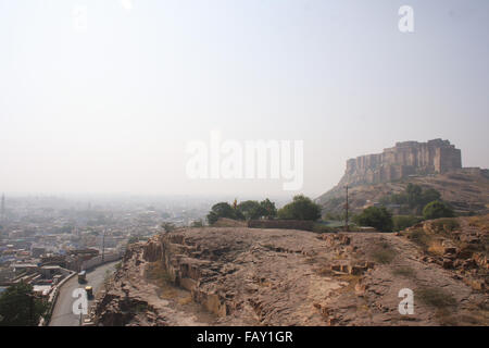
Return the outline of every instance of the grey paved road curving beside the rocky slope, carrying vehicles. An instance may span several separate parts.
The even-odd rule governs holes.
[[[93,287],[93,294],[97,294],[101,286],[103,286],[106,273],[109,272],[112,274],[115,271],[115,264],[118,261],[106,263],[87,272],[86,284],[78,284],[77,276],[67,281],[61,287],[49,326],[78,326],[79,316],[74,314],[72,309],[73,302],[75,301],[75,298],[72,297],[73,290],[80,287],[84,288],[85,286],[91,286]],[[90,304],[91,301],[88,302],[88,307],[90,307]]]

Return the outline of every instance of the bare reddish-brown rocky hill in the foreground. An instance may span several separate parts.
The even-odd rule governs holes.
[[[96,322],[488,325],[486,222],[429,222],[402,234],[175,231],[127,250]],[[398,311],[402,288],[415,294],[412,315]]]

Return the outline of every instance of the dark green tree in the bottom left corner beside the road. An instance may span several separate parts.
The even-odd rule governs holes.
[[[32,285],[14,284],[0,295],[0,326],[36,326],[47,310],[47,301],[35,296]]]

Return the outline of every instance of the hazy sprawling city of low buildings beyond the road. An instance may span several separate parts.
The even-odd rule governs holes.
[[[25,282],[49,297],[73,272],[123,254],[129,240],[146,240],[163,223],[203,221],[213,198],[62,198],[1,196],[0,293]],[[90,261],[91,260],[91,261]]]

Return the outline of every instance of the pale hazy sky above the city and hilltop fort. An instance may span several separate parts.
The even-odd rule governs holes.
[[[489,167],[488,62],[487,0],[0,0],[0,191],[293,194],[187,178],[211,129],[303,140],[314,197],[401,140]]]

